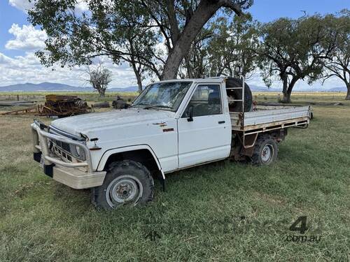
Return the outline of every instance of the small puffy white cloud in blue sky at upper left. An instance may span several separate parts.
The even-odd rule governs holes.
[[[45,40],[48,38],[45,31],[35,29],[32,25],[12,24],[8,30],[15,39],[7,41],[5,48],[10,50],[39,50],[45,47]]]

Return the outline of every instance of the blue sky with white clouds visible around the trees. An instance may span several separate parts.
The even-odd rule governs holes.
[[[0,0],[0,86],[32,82],[58,82],[62,84],[84,87],[85,69],[74,67],[60,68],[54,66],[47,68],[40,64],[34,55],[36,50],[42,49],[46,38],[45,31],[34,28],[27,21],[27,8],[31,7],[28,0]],[[78,10],[86,10],[83,0],[78,0]],[[314,13],[335,13],[344,8],[350,9],[350,0],[255,0],[248,9],[255,20],[269,22],[279,17],[297,18]],[[115,65],[105,61],[105,65],[113,73],[111,87],[129,87],[137,85],[132,69],[127,64]],[[149,80],[145,80],[147,84]],[[258,73],[249,80],[251,85],[265,86]],[[280,87],[279,81],[273,87]],[[320,87],[316,82],[314,86]],[[325,89],[343,86],[337,78],[330,78]],[[295,89],[310,89],[305,81],[297,82]]]

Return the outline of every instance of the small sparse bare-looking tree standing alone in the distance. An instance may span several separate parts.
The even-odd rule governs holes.
[[[99,92],[100,97],[104,97],[106,89],[112,80],[111,71],[103,66],[101,62],[97,66],[88,66],[89,82],[92,87]]]

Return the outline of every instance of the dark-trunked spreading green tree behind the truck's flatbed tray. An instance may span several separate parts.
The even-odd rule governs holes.
[[[283,102],[290,103],[295,83],[302,79],[309,84],[323,73],[323,60],[335,48],[332,31],[326,17],[313,15],[297,20],[280,18],[260,29],[262,46],[259,50],[262,78],[283,82]],[[328,41],[329,45],[322,45]]]

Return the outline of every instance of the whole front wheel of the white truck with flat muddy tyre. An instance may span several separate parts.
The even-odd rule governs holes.
[[[111,163],[104,183],[92,189],[92,203],[104,209],[152,201],[154,182],[141,163],[124,160]]]

